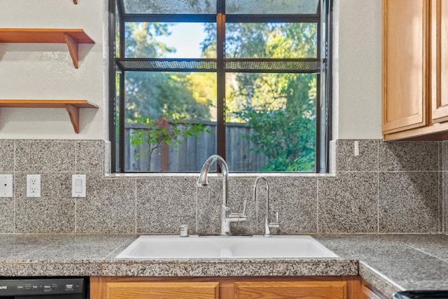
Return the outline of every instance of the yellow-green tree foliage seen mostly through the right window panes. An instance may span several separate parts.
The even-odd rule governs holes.
[[[216,47],[216,31],[207,28],[204,50]],[[317,56],[316,24],[229,23],[230,58],[302,58]],[[261,171],[314,171],[316,159],[316,75],[228,74],[227,120],[247,123],[253,151],[265,153]]]

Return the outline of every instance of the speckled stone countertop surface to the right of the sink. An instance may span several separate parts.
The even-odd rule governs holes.
[[[359,261],[359,274],[384,294],[448,289],[447,235],[320,235],[341,258]]]

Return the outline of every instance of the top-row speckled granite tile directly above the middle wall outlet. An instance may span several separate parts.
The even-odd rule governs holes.
[[[75,148],[71,140],[16,140],[15,171],[73,172]]]

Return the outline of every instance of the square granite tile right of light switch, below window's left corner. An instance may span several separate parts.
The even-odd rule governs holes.
[[[87,197],[76,198],[76,232],[134,233],[135,179],[87,174]]]

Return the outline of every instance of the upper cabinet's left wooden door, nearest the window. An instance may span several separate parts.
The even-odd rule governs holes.
[[[383,133],[428,124],[428,46],[429,0],[383,0]]]

